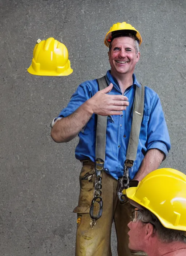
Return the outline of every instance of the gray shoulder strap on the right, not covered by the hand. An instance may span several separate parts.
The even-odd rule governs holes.
[[[137,154],[138,142],[139,142],[139,136],[140,136],[140,128],[141,128],[141,122],[143,118],[144,95],[145,95],[145,86],[144,85],[141,85],[141,87],[136,86],[132,127],[130,130],[130,138],[129,138],[129,144],[128,144],[126,160],[125,160],[125,165],[127,167],[133,166],[133,163],[136,160],[136,154]]]

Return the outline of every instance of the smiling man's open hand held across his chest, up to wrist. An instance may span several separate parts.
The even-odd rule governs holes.
[[[108,95],[112,90],[113,84],[98,91],[92,98],[87,100],[87,105],[94,114],[101,116],[121,115],[123,110],[129,105],[128,98],[123,95]]]

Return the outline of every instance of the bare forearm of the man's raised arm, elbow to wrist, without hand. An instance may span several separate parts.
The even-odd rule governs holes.
[[[83,103],[70,116],[64,117],[54,124],[51,137],[57,143],[68,142],[78,135],[81,129],[88,123],[93,111],[88,101]]]

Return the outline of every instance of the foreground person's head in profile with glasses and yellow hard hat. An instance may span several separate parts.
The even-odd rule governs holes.
[[[149,173],[126,189],[133,205],[129,248],[147,252],[159,244],[186,246],[186,175],[170,168]]]

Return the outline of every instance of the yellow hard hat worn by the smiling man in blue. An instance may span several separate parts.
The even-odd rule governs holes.
[[[125,30],[125,31],[124,31]],[[110,27],[109,32],[105,36],[104,44],[109,47],[109,43],[111,42],[113,36],[117,35],[118,33],[130,33],[137,37],[139,40],[139,45],[142,43],[142,38],[140,33],[136,30],[136,28],[132,27],[130,24],[126,23],[125,21],[120,23],[114,24]]]

